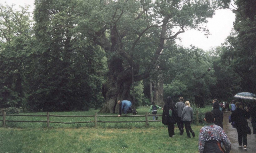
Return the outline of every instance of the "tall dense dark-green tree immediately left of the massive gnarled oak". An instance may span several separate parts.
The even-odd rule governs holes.
[[[100,107],[104,52],[75,26],[78,1],[36,0],[36,47],[29,74],[28,105],[36,111],[88,110]]]

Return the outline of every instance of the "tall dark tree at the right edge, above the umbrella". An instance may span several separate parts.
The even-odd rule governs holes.
[[[256,1],[235,0],[234,31],[223,45],[221,59],[241,79],[239,92],[256,91]],[[236,94],[236,93],[233,93]]]

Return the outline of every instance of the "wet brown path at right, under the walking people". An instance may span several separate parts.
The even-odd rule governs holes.
[[[237,138],[237,131],[236,128],[232,128],[231,123],[228,123],[228,117],[229,117],[230,113],[224,112],[224,120],[223,120],[223,128],[226,131],[228,138],[232,144],[232,149],[230,151],[230,153],[240,153],[240,152],[245,152],[243,150],[243,148],[239,149],[238,148],[238,138]],[[252,130],[252,123],[251,123],[251,119],[248,119],[248,125],[250,126],[251,130]],[[251,134],[251,135],[247,135],[247,152],[256,152],[256,138],[255,135]]]

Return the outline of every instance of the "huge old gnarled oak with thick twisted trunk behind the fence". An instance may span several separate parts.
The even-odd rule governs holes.
[[[219,4],[200,0],[81,1],[77,28],[102,47],[108,58],[108,80],[102,87],[105,105],[100,112],[115,113],[117,100],[132,100],[132,67],[134,81],[149,77],[164,40],[175,39],[190,28],[207,33],[203,24]]]

